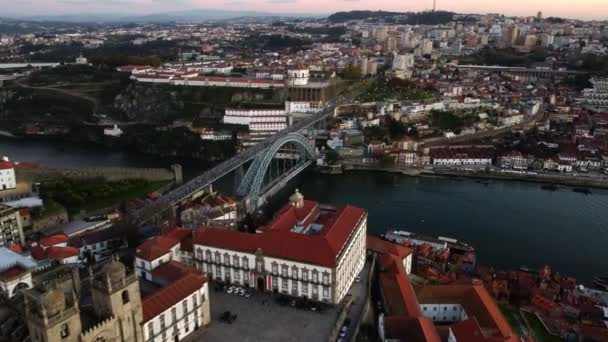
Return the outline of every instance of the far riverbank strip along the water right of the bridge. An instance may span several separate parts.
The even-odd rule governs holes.
[[[462,171],[462,170],[435,170],[423,168],[402,168],[394,166],[380,166],[378,164],[343,164],[343,171],[367,171],[402,174],[410,177],[449,177],[469,178],[478,180],[518,181],[539,184],[554,184],[577,188],[608,189],[608,178],[575,177],[570,175],[551,174],[522,174],[495,171]],[[334,173],[335,174],[335,173]]]

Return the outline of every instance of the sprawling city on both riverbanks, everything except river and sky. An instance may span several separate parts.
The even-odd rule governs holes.
[[[175,161],[58,167],[0,140],[0,341],[608,341],[608,273],[372,234],[372,208],[294,187],[381,172],[603,191],[607,21],[0,17],[0,135]]]

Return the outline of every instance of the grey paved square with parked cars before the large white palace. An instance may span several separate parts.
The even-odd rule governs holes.
[[[209,296],[211,324],[184,341],[327,341],[338,316],[338,307],[320,313],[281,306],[269,294],[255,292],[244,298],[216,292],[213,285]],[[221,322],[219,317],[225,311],[236,314],[236,321]]]

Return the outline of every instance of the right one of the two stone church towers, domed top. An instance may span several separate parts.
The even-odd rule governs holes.
[[[127,275],[125,265],[115,258],[95,275],[91,294],[96,315],[116,320],[117,341],[143,341],[141,296],[134,273]]]

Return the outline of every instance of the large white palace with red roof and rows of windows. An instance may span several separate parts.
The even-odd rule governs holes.
[[[257,233],[199,228],[196,266],[217,281],[332,304],[365,263],[367,213],[304,200],[297,190]]]

